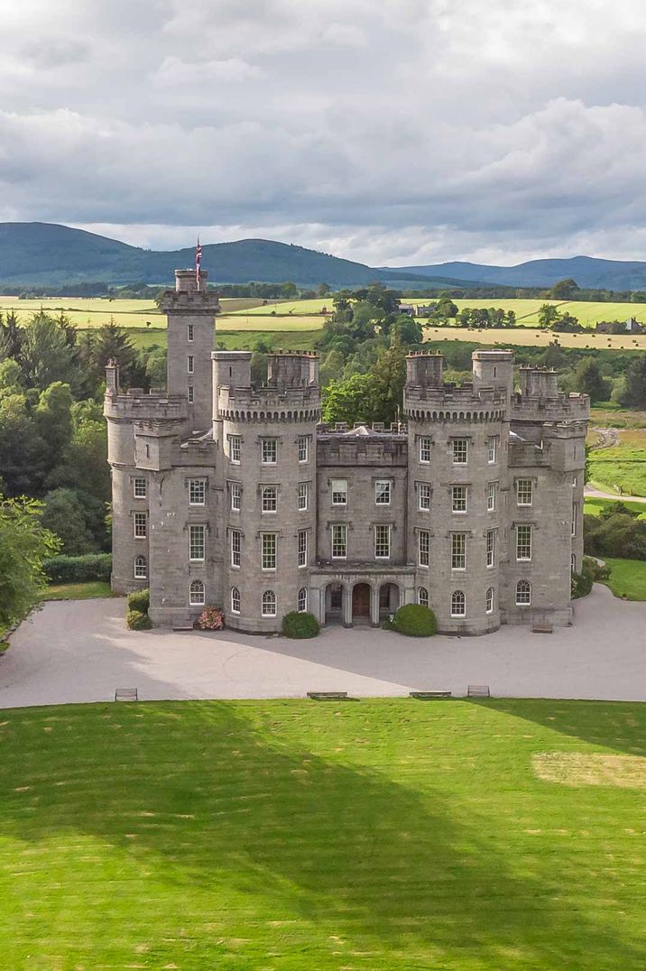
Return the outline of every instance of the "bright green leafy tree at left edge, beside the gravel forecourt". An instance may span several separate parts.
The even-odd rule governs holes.
[[[0,628],[24,617],[47,586],[43,560],[58,552],[58,540],[41,523],[33,499],[0,497]]]

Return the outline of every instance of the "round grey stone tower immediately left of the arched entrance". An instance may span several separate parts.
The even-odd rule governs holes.
[[[226,555],[223,606],[229,627],[280,630],[309,610],[316,552],[318,358],[271,354],[255,387],[251,352],[214,352],[214,438],[223,458]]]

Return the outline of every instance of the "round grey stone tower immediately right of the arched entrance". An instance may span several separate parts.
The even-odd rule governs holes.
[[[409,550],[417,599],[447,633],[500,623],[510,352],[474,352],[473,384],[444,384],[441,355],[407,358]]]

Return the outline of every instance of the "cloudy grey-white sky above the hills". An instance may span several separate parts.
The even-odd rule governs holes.
[[[5,0],[0,54],[0,220],[646,257],[643,0]]]

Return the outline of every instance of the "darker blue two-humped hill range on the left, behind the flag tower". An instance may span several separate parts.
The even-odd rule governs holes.
[[[193,248],[157,252],[55,223],[0,223],[0,283],[5,284],[54,286],[100,280],[110,285],[171,285],[173,271],[193,266],[194,259]],[[325,283],[341,287],[379,280],[391,286],[460,285],[445,276],[421,280],[424,274],[372,269],[363,263],[272,240],[203,246],[202,267],[219,284],[289,280],[301,286]]]

